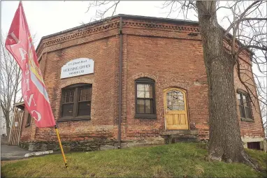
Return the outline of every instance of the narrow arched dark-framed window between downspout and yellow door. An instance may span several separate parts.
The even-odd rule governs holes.
[[[136,80],[136,118],[157,118],[154,80],[142,77]]]

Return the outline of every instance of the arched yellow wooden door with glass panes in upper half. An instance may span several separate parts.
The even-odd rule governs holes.
[[[187,130],[187,95],[184,90],[170,88],[164,91],[164,111],[167,130]]]

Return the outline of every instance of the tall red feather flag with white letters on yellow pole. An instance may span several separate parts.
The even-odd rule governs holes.
[[[6,38],[6,49],[22,69],[22,96],[38,127],[55,126],[48,93],[20,1]]]

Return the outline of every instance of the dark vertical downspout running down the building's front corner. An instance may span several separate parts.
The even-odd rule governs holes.
[[[119,66],[119,122],[118,122],[118,133],[117,133],[117,148],[120,149],[122,146],[122,17],[120,17],[120,66]]]

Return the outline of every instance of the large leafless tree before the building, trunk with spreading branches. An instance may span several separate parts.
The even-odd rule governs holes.
[[[96,17],[103,18],[108,10],[115,13],[120,1],[110,2],[113,3],[101,13],[96,13]],[[92,4],[106,6],[106,3],[94,1],[89,8]],[[234,73],[237,73],[247,90],[252,105],[258,105],[259,102],[266,106],[266,90],[261,85],[261,77],[266,76],[266,1],[166,1],[162,8],[169,10],[168,15],[182,13],[185,19],[193,12],[199,20],[208,77],[208,158],[247,163],[257,168],[245,153],[241,141]],[[217,13],[223,9],[231,12],[231,15],[224,17],[224,20],[228,20],[226,29],[217,21]],[[251,56],[252,63],[257,66],[261,75],[252,73],[252,68],[240,60],[244,56]]]

